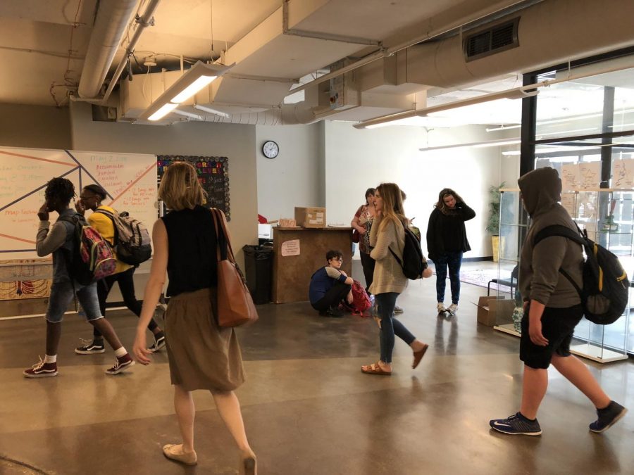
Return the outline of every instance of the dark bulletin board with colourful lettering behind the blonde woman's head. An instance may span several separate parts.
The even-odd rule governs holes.
[[[207,208],[223,210],[231,220],[229,205],[229,159],[227,157],[199,157],[182,155],[159,155],[156,170],[159,184],[165,169],[174,162],[188,162],[198,171],[198,179],[207,192]]]

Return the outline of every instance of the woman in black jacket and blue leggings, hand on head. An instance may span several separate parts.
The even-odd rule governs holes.
[[[434,207],[427,227],[427,250],[436,267],[436,308],[438,313],[449,312],[455,315],[460,300],[462,254],[471,251],[464,222],[472,220],[475,211],[450,188],[440,191]],[[452,304],[445,308],[447,267],[452,286]]]

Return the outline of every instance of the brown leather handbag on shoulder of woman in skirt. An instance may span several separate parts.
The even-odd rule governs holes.
[[[225,213],[211,208],[218,237],[218,315],[220,327],[240,327],[258,319],[258,312],[247,289],[247,281],[235,263]]]

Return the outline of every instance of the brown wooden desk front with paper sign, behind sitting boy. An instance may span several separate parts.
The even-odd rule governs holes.
[[[311,276],[331,249],[343,253],[341,268],[352,277],[351,227],[273,227],[273,302],[308,300]]]

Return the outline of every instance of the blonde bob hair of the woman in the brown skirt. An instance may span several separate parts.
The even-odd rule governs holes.
[[[206,196],[192,165],[174,162],[166,168],[159,186],[159,199],[165,201],[170,210],[192,210],[206,203]]]

